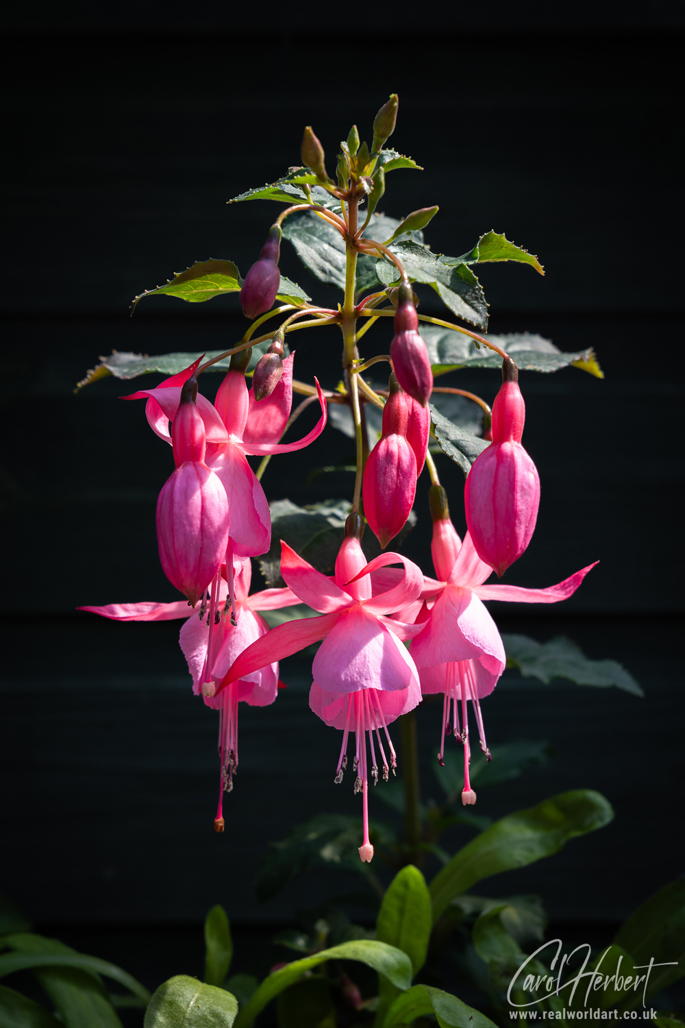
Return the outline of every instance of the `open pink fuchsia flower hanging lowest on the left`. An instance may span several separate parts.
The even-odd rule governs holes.
[[[233,788],[233,776],[238,767],[238,702],[251,706],[267,706],[276,698],[278,664],[244,675],[215,696],[221,682],[236,657],[248,646],[266,634],[268,626],[258,611],[273,611],[292,607],[300,600],[290,589],[264,589],[248,595],[252,568],[249,559],[237,559],[233,567],[235,589],[235,624],[228,617],[229,595],[226,570],[215,577],[201,602],[188,610],[185,600],[172,603],[110,603],[106,607],[80,607],[115,621],[168,621],[185,618],[180,644],[193,680],[193,692],[201,694],[207,706],[219,710],[220,792],[215,818],[217,832],[224,831],[222,801],[224,792]]]

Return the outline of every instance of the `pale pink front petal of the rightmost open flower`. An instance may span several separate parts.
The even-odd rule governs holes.
[[[457,586],[447,586],[435,600],[425,630],[412,642],[412,656],[419,669],[472,658],[483,658],[493,673],[506,666],[495,622],[470,589]]]

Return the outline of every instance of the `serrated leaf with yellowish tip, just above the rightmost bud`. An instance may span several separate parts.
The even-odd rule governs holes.
[[[421,336],[426,344],[433,376],[444,375],[457,368],[501,368],[502,359],[492,350],[481,346],[467,335],[436,325],[421,325]],[[592,347],[575,353],[562,353],[549,339],[529,332],[513,332],[510,335],[488,335],[496,346],[504,350],[517,362],[522,371],[559,371],[560,368],[582,367],[596,377],[603,378]],[[596,370],[591,370],[591,365]]]

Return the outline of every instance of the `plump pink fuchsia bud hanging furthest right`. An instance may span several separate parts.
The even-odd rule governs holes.
[[[466,523],[481,560],[500,576],[528,546],[540,502],[537,469],[521,445],[526,406],[510,357],[492,407],[492,443],[466,479]]]

